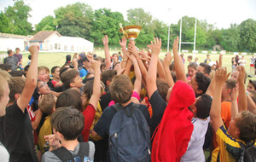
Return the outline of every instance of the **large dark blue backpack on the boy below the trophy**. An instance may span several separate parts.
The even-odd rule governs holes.
[[[151,159],[150,131],[139,104],[122,107],[113,105],[117,111],[109,128],[109,154],[112,162],[147,162]]]

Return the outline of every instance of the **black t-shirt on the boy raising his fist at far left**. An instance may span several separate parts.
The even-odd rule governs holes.
[[[9,152],[10,162],[38,161],[32,134],[32,124],[26,109],[23,113],[17,102],[6,108],[1,119],[3,144]]]

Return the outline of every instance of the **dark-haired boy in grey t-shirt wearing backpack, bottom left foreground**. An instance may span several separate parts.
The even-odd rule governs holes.
[[[54,135],[45,137],[49,141],[50,148],[44,153],[42,162],[93,160],[95,152],[93,142],[84,143],[77,140],[84,129],[84,115],[79,110],[72,107],[59,107],[52,114],[50,123]],[[84,160],[85,158],[87,160]]]

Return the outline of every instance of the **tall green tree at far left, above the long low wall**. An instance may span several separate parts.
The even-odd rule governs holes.
[[[32,34],[32,24],[27,21],[32,9],[22,0],[16,1],[14,6],[5,9],[5,15],[9,18],[9,32],[13,34]]]

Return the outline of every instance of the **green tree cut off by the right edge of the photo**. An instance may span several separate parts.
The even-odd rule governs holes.
[[[256,20],[244,20],[238,28],[241,38],[240,49],[256,51]]]

